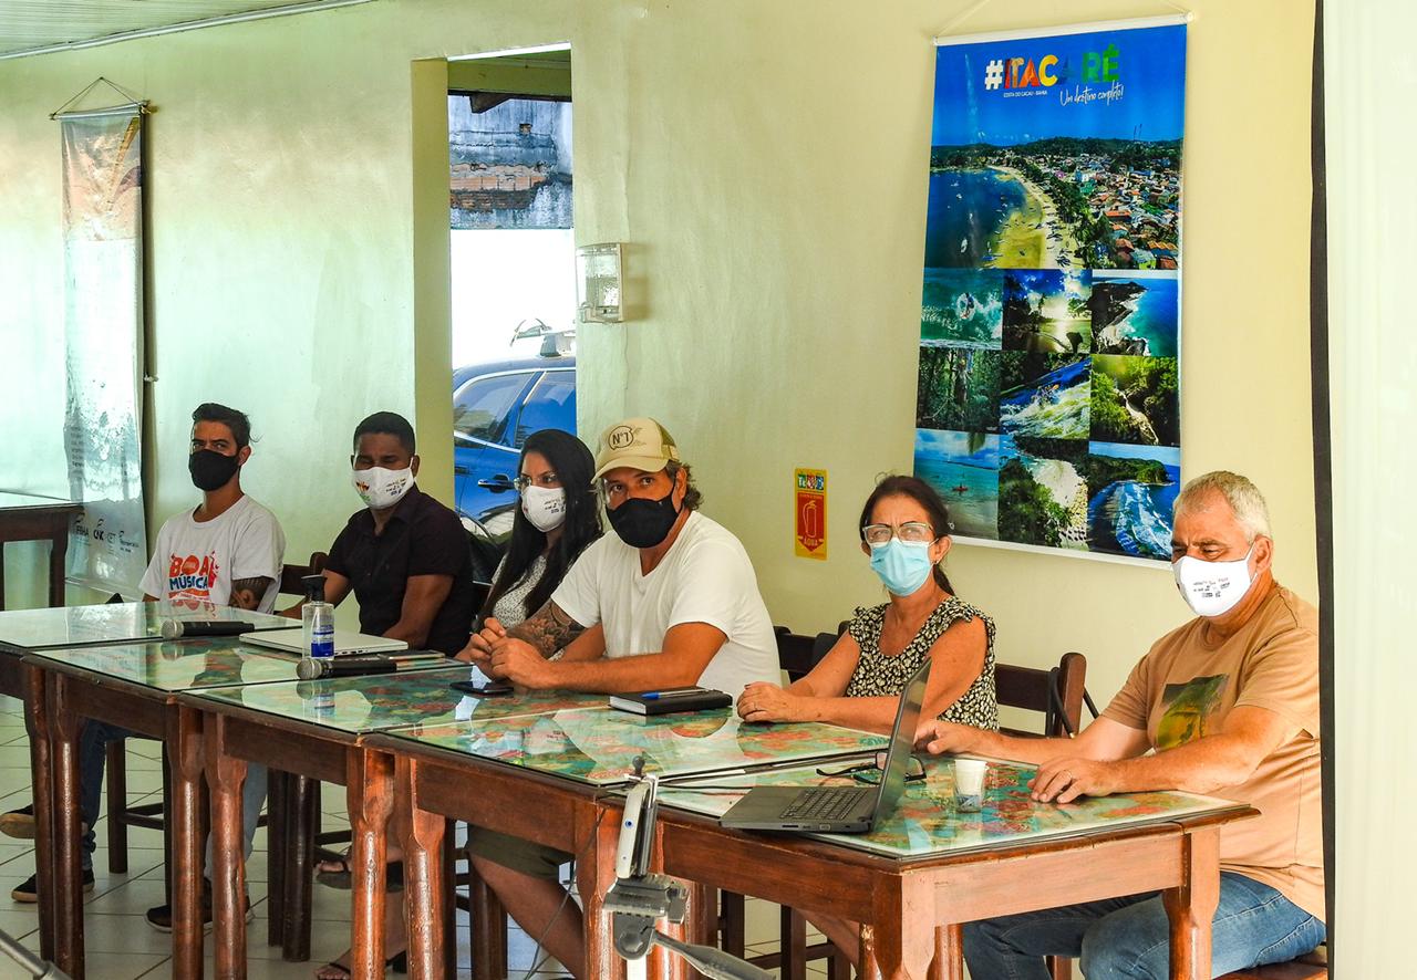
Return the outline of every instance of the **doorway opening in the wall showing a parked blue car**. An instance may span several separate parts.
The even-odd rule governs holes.
[[[523,442],[575,432],[571,51],[449,61],[448,89],[453,494],[492,561]]]

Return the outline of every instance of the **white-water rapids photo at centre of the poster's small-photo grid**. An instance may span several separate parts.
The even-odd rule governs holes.
[[[1044,439],[1087,439],[1091,368],[1087,355],[999,355],[999,431]]]

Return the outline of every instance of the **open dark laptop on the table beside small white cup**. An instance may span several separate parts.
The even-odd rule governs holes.
[[[905,792],[905,772],[915,743],[920,705],[925,700],[930,660],[920,666],[900,695],[886,766],[876,786],[754,786],[718,823],[741,830],[809,830],[864,834],[894,811]]]

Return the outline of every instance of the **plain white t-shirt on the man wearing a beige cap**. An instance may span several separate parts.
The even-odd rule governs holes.
[[[605,656],[660,653],[680,623],[708,623],[728,639],[699,683],[734,698],[752,681],[778,683],[778,644],[748,552],[721,524],[689,515],[649,575],[639,549],[611,532],[581,552],[551,595],[581,626],[605,627]]]

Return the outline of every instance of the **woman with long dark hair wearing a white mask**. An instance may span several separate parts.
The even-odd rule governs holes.
[[[594,472],[591,450],[570,432],[541,429],[527,436],[517,463],[521,500],[507,554],[492,576],[473,632],[487,617],[512,627],[534,613],[585,547],[601,537]]]

